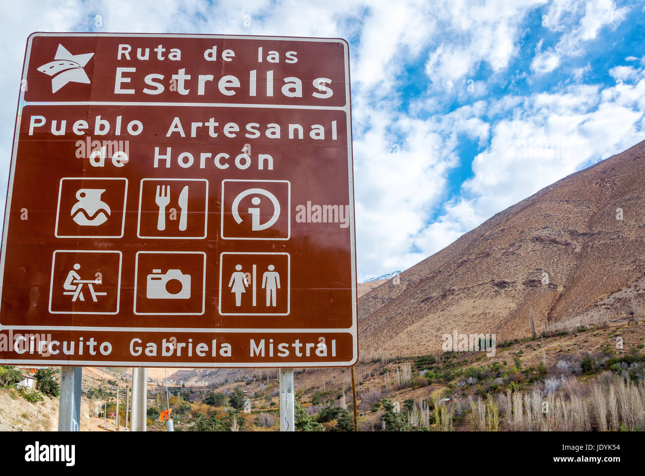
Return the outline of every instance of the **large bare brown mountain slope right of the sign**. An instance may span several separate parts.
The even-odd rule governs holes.
[[[530,335],[530,309],[538,332],[600,312],[624,318],[645,286],[644,252],[645,141],[496,214],[402,272],[399,285],[362,296],[361,354],[427,354],[455,329],[497,341]]]

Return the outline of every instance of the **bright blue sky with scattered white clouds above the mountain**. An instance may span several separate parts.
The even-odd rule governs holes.
[[[645,138],[642,1],[26,0],[0,18],[2,196],[34,31],[347,39],[359,280]]]

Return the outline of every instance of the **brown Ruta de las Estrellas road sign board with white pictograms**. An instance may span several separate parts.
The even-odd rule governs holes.
[[[348,46],[34,33],[0,363],[357,359]]]

